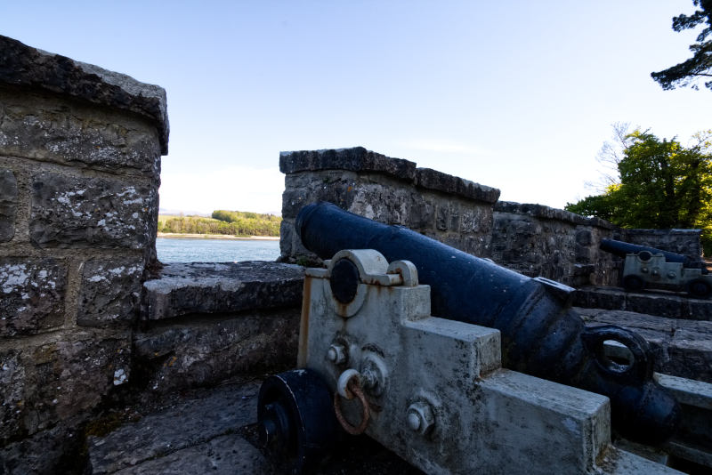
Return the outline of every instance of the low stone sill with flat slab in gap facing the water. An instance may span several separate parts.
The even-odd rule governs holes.
[[[134,358],[151,392],[296,364],[304,269],[274,262],[168,264],[143,284]]]

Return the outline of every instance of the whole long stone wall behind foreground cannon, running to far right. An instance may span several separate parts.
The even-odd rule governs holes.
[[[498,189],[361,147],[282,152],[279,169],[286,174],[282,262],[320,262],[294,229],[299,210],[320,200],[569,286],[619,285],[622,261],[598,248],[603,238],[701,254],[699,230],[619,229],[545,205],[498,202]]]

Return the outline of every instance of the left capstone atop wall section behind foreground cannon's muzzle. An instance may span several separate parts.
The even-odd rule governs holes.
[[[382,172],[402,180],[415,181],[416,179],[416,164],[414,162],[402,158],[385,157],[363,147],[279,153],[279,171],[281,173],[315,170]]]

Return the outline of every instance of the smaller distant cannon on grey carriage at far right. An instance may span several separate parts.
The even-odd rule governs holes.
[[[627,292],[640,292],[646,285],[653,284],[684,290],[698,299],[712,296],[712,275],[699,258],[614,239],[603,239],[600,248],[626,260],[622,284]]]

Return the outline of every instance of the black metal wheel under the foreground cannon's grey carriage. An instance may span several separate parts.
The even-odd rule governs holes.
[[[334,404],[311,369],[264,380],[257,399],[260,446],[291,474],[309,473],[327,459],[338,437]]]

